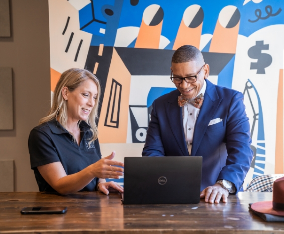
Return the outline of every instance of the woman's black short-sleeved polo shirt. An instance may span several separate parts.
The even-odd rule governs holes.
[[[41,176],[37,167],[52,162],[61,162],[67,175],[77,173],[102,158],[98,140],[90,146],[90,126],[82,121],[81,142],[78,145],[72,135],[56,120],[43,123],[32,129],[28,139],[31,169],[34,170],[39,191],[55,191]],[[94,191],[98,178],[94,178],[81,191]]]

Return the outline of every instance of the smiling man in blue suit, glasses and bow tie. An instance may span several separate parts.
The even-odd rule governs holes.
[[[171,65],[177,90],[153,102],[142,156],[202,156],[200,198],[227,202],[253,157],[243,94],[206,80],[209,65],[194,46],[177,49]]]

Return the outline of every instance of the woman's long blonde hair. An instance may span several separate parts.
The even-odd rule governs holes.
[[[62,96],[62,89],[63,87],[67,87],[68,90],[72,92],[76,88],[78,88],[82,82],[89,79],[93,80],[98,88],[98,94],[97,98],[95,99],[95,105],[86,121],[91,126],[90,130],[93,133],[93,136],[90,138],[89,144],[91,144],[94,140],[96,140],[98,138],[98,127],[96,124],[96,120],[98,119],[98,107],[99,107],[98,103],[101,94],[101,87],[98,78],[93,73],[85,69],[71,68],[62,73],[52,96],[51,109],[46,117],[40,119],[39,124],[51,121],[53,119],[57,119],[59,123],[64,128],[66,128],[67,118],[68,118],[67,104]],[[78,126],[80,122],[78,123]]]

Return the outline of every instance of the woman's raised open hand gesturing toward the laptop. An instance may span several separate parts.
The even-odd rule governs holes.
[[[124,163],[119,161],[113,161],[112,159],[115,157],[115,152],[113,151],[111,155],[100,159],[96,163],[92,164],[92,171],[94,177],[97,178],[113,178],[119,179],[119,176],[123,175],[123,167]],[[121,166],[121,167],[116,167]]]

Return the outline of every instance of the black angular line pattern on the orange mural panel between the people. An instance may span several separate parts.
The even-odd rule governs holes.
[[[107,114],[106,114],[106,119],[105,119],[105,124],[104,124],[107,127],[114,127],[114,128],[119,127],[121,89],[122,89],[122,85],[119,82],[117,82],[115,79],[113,79],[112,85],[111,85],[108,107],[107,107]],[[113,92],[114,92],[114,95],[112,96]],[[118,99],[116,99],[117,92],[119,92]],[[111,106],[111,102],[112,102],[112,106]],[[117,113],[116,113],[116,118],[114,119],[114,114],[115,114],[115,111],[116,111],[115,110],[116,105],[117,105]],[[111,115],[110,121],[108,121],[109,114]]]

